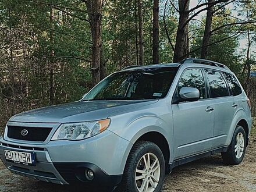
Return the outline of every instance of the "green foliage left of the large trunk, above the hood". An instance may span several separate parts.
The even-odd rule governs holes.
[[[55,104],[88,91],[91,32],[84,10],[78,1],[0,2],[0,111],[6,118],[49,104],[51,69]]]

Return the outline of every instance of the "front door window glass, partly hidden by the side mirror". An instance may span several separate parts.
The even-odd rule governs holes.
[[[200,92],[200,99],[206,98],[204,77],[202,76],[201,69],[188,69],[186,70],[177,87],[178,93],[182,87],[197,88]]]

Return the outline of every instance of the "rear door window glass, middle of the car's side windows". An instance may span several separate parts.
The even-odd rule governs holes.
[[[227,85],[221,72],[217,72],[215,70],[205,70],[205,73],[208,79],[212,98],[225,97],[229,95]]]

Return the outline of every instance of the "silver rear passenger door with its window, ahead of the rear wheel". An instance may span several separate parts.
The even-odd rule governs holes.
[[[212,149],[223,147],[233,120],[236,105],[230,88],[221,71],[205,69],[209,94],[214,105],[214,138]]]

